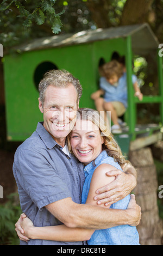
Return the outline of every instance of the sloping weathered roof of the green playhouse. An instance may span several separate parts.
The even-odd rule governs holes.
[[[126,38],[131,36],[135,54],[148,53],[158,48],[159,41],[147,23],[123,27],[98,28],[95,31],[81,31],[76,34],[60,34],[36,39],[29,44],[16,47],[16,50],[34,51],[43,48],[64,47],[68,45],[86,44],[99,40]]]

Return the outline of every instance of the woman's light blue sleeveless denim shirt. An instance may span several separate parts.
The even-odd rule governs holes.
[[[114,159],[102,151],[102,153],[93,162],[87,164],[84,168],[85,182],[82,192],[82,204],[85,204],[87,195],[89,193],[90,183],[93,172],[102,163],[108,163],[117,169],[121,169],[120,165],[114,161]],[[122,169],[121,169],[122,170]],[[127,209],[130,196],[123,198],[122,200],[114,203],[110,206],[112,209]],[[120,225],[114,228],[95,230],[91,239],[87,241],[88,245],[139,245],[139,234],[136,227],[130,225]]]

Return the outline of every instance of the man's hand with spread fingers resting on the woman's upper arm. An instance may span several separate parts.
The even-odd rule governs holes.
[[[96,191],[94,200],[97,204],[105,204],[105,206],[118,202],[118,200],[126,197],[136,186],[136,178],[129,172],[122,172],[121,170],[111,170],[106,173],[108,176],[115,176],[115,180],[110,184],[99,188]]]

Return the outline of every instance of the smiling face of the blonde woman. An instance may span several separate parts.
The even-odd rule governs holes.
[[[71,133],[70,142],[77,159],[88,164],[101,153],[104,137],[92,121],[78,119]]]

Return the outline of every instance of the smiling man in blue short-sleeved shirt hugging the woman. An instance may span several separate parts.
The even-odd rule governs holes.
[[[38,123],[33,135],[18,147],[13,165],[22,211],[37,227],[61,223],[67,227],[93,229],[121,224],[137,225],[140,221],[140,208],[135,203],[131,204],[130,209],[115,211],[80,204],[85,179],[83,164],[68,153],[66,146],[66,136],[73,129],[82,96],[79,81],[67,71],[53,70],[40,82],[39,92],[43,123]],[[123,187],[123,197],[126,196],[135,186],[134,175],[120,171],[114,175],[120,186],[117,190],[113,186],[113,191],[121,190],[122,193],[120,187]],[[101,188],[99,193],[105,194],[107,190]],[[121,199],[121,193],[112,196],[112,199]],[[97,194],[96,197],[101,199],[104,196]],[[109,200],[104,199],[104,202]],[[20,244],[26,242],[21,241]],[[28,244],[82,245],[83,242],[31,239]]]

